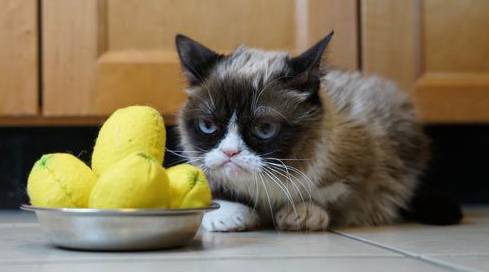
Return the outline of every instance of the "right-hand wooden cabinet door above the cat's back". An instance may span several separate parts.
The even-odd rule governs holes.
[[[362,0],[362,66],[413,92],[424,121],[489,121],[489,1]]]

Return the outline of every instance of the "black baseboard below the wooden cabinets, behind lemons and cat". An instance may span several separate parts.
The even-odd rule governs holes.
[[[423,190],[463,203],[489,203],[489,125],[427,126],[433,158],[423,177]],[[90,161],[98,127],[0,128],[0,208],[27,203],[27,176],[44,153],[69,152]],[[168,128],[170,149],[176,147],[174,127]],[[181,158],[165,155],[165,166]]]

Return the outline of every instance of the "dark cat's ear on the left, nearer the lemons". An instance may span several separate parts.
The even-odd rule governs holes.
[[[222,55],[181,34],[175,37],[175,43],[183,72],[191,85],[200,84],[222,58]]]

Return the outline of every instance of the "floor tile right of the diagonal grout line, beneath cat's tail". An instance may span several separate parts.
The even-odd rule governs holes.
[[[489,271],[489,207],[465,212],[463,223],[455,226],[401,224],[338,232],[397,252]]]

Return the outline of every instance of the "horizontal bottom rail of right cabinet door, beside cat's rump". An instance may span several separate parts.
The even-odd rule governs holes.
[[[413,100],[426,123],[487,123],[489,73],[426,74]]]

